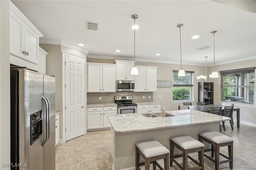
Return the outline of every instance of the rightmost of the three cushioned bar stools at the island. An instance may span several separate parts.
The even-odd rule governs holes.
[[[233,139],[215,131],[201,132],[199,135],[199,141],[206,141],[211,144],[211,149],[204,150],[204,152],[211,151],[211,156],[204,154],[206,158],[215,163],[215,170],[219,169],[219,164],[229,162],[230,169],[233,169]],[[220,153],[221,146],[228,146],[228,156]],[[214,156],[215,154],[215,156]],[[226,158],[226,160],[220,161],[220,155]],[[214,157],[214,159],[213,159]]]

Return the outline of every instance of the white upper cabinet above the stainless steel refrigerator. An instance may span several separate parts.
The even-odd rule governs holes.
[[[38,71],[43,35],[10,1],[10,63]]]

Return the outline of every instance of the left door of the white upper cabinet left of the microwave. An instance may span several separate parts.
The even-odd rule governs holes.
[[[102,92],[102,65],[88,64],[88,92]]]

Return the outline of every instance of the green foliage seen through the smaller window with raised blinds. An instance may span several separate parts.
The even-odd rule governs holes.
[[[173,87],[173,100],[189,100],[190,87]]]

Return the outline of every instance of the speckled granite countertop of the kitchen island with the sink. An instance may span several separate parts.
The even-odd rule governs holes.
[[[116,133],[136,132],[231,120],[229,117],[223,117],[192,109],[165,112],[174,116],[164,118],[144,117],[141,113],[132,113],[108,115],[108,119]]]

